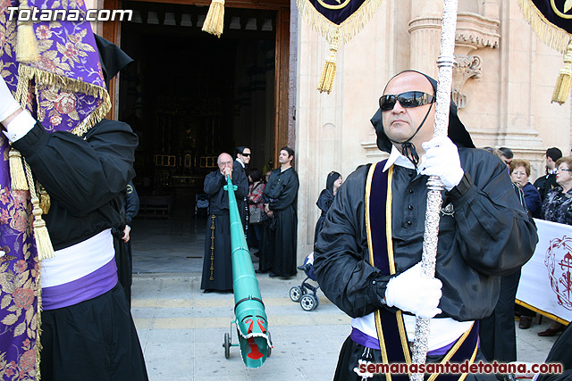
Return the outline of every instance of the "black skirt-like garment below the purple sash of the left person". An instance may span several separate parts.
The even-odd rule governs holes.
[[[42,311],[42,381],[147,381],[122,286],[85,302]]]

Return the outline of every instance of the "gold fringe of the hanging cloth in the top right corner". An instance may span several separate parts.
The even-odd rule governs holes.
[[[544,17],[532,0],[517,0],[520,10],[525,16],[526,22],[533,28],[534,33],[543,41],[544,44],[550,46],[552,49],[558,50],[560,53],[565,53],[570,41],[570,34],[558,28]]]

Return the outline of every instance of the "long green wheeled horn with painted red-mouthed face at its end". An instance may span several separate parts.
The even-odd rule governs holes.
[[[260,368],[272,352],[272,341],[268,331],[265,304],[262,302],[258,279],[250,259],[247,240],[240,222],[239,206],[236,202],[230,177],[224,190],[229,193],[231,216],[231,259],[232,287],[234,288],[234,316],[239,344],[231,344],[231,334],[224,334],[224,357],[231,353],[231,346],[240,346],[240,354],[247,368]]]

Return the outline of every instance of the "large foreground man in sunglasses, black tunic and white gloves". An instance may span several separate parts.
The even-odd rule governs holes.
[[[410,362],[416,316],[431,319],[427,362],[484,360],[475,320],[493,311],[500,276],[534,253],[534,221],[506,167],[475,149],[452,101],[448,137],[433,138],[436,89],[434,79],[412,70],[389,81],[372,119],[377,146],[389,159],[349,175],[318,236],[320,286],[354,318],[336,380],[369,377],[368,361]],[[432,175],[444,189],[435,277],[425,278],[420,261]],[[391,379],[401,377],[408,375]],[[486,378],[494,379],[466,379]]]

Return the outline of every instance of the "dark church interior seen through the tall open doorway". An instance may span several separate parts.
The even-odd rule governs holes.
[[[225,9],[223,35],[201,30],[207,7],[124,2],[119,120],[139,136],[139,218],[200,212],[203,180],[219,153],[252,151],[273,168],[275,12]]]

